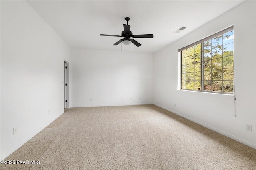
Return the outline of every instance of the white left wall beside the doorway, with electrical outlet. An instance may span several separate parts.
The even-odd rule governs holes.
[[[26,1],[0,3],[2,160],[64,112],[70,48]]]

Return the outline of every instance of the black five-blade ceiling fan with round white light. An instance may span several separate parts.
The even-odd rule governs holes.
[[[135,41],[134,39],[131,39],[131,38],[153,38],[153,34],[132,35],[132,32],[130,31],[131,26],[128,25],[128,21],[130,21],[130,18],[126,17],[125,20],[127,21],[127,24],[123,24],[124,25],[124,31],[122,31],[121,35],[107,35],[107,34],[100,34],[100,35],[102,35],[102,36],[111,36],[111,37],[124,37],[123,39],[120,39],[119,41],[117,41],[113,45],[118,45],[122,42],[125,45],[133,43],[137,47],[141,46],[141,44],[138,43],[138,41]]]

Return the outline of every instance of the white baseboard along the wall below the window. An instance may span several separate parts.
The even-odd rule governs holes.
[[[252,147],[252,148],[256,149],[256,145],[255,145],[255,144],[250,143],[250,142],[248,142],[248,141],[245,141],[244,139],[240,139],[239,137],[236,137],[236,136],[234,136],[234,135],[231,135],[231,134],[229,134],[229,133],[226,133],[226,132],[224,132],[224,131],[221,131],[221,130],[219,130],[219,129],[216,129],[215,127],[206,125],[205,123],[202,123],[202,122],[200,122],[200,121],[197,121],[197,120],[195,120],[195,119],[192,119],[192,118],[190,118],[190,117],[188,117],[188,116],[182,115],[181,113],[178,113],[178,112],[176,112],[176,111],[173,111],[173,110],[171,110],[171,109],[168,109],[168,108],[166,108],[166,107],[164,107],[164,106],[161,106],[161,105],[159,105],[159,104],[156,104],[156,103],[153,103],[153,104],[156,105],[156,106],[158,106],[158,107],[161,107],[162,109],[168,110],[168,111],[170,111],[170,112],[172,112],[172,113],[174,113],[174,114],[176,114],[176,115],[179,115],[179,116],[181,116],[181,117],[184,117],[185,119],[188,119],[188,120],[190,120],[190,121],[193,121],[194,123],[197,123],[197,124],[199,124],[199,125],[202,125],[202,126],[208,128],[208,129],[211,129],[211,130],[213,130],[213,131],[216,131],[216,132],[218,132],[218,133],[220,133],[220,134],[222,134],[222,135],[224,135],[224,136],[226,136],[226,137],[229,137],[229,138],[234,139],[234,140],[236,140],[236,141],[238,141],[238,142],[240,142],[240,143],[243,143],[244,145],[247,145],[247,146],[249,146],[249,147]]]

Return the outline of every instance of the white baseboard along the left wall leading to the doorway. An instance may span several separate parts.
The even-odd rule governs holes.
[[[10,150],[8,150],[7,152],[5,152],[4,154],[2,154],[0,156],[0,161],[4,160],[5,158],[7,158],[10,154],[12,154],[15,150],[17,150],[19,147],[21,147],[22,145],[24,145],[27,141],[29,141],[32,137],[34,137],[36,134],[38,134],[40,131],[42,131],[45,127],[47,127],[48,125],[50,125],[50,123],[52,123],[55,119],[57,119],[58,117],[60,117],[60,115],[62,115],[63,113],[57,115],[56,117],[54,117],[54,119],[52,119],[51,121],[48,121],[44,126],[40,127],[39,129],[37,129],[34,133],[32,133],[31,135],[29,135],[26,139],[24,139],[23,141],[21,141],[18,145],[12,147]]]

